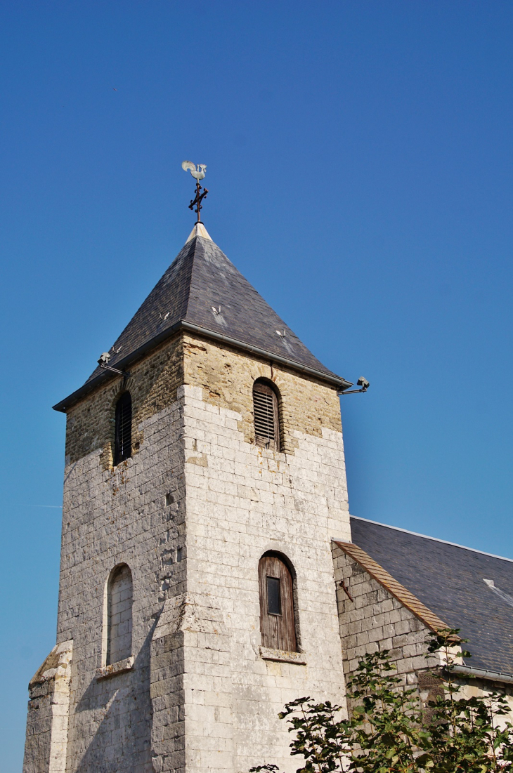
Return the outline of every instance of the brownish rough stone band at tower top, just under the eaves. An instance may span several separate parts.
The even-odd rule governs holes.
[[[110,380],[70,408],[67,463],[101,448],[103,468],[112,467],[115,404],[125,390],[132,396],[132,443],[136,455],[144,439],[140,429],[142,421],[173,403],[182,383],[202,386],[208,402],[241,414],[242,431],[251,441],[254,437],[251,387],[258,377],[272,380],[279,389],[282,450],[292,451],[296,447],[293,438],[296,429],[316,437],[321,436],[322,427],[340,432],[340,405],[333,387],[321,385],[308,376],[298,378],[290,369],[271,366],[237,349],[180,333],[131,366],[128,379],[120,376]]]

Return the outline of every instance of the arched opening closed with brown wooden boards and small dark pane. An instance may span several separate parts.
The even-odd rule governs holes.
[[[297,652],[292,574],[277,556],[262,556],[258,564],[262,645]]]

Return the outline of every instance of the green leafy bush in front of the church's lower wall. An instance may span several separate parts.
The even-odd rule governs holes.
[[[348,681],[354,708],[343,718],[340,706],[298,698],[279,713],[294,733],[292,755],[303,757],[297,773],[508,773],[513,764],[513,727],[504,717],[501,693],[465,697],[455,676],[456,629],[433,635],[426,658],[443,655],[436,670],[439,695],[422,706],[416,688],[395,676],[388,651],[361,659]],[[470,657],[469,652],[458,652]],[[502,718],[502,719],[501,719]],[[274,773],[275,764],[251,773]]]

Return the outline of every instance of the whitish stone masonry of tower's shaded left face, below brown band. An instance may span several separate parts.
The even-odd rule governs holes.
[[[183,410],[139,425],[139,453],[104,470],[102,448],[66,468],[58,641],[74,640],[67,771],[152,771],[150,650],[162,604],[185,588]],[[101,678],[105,584],[132,571],[131,669]]]

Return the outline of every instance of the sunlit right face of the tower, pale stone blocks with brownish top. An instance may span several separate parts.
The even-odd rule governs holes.
[[[221,611],[230,669],[200,640],[185,649],[186,765],[248,771],[272,761],[292,771],[289,734],[277,717],[284,703],[302,695],[344,703],[330,550],[333,536],[350,533],[340,423],[332,428],[338,400],[326,386],[305,387],[300,376],[271,374],[248,358],[239,372],[233,352],[204,349],[186,349],[184,363],[186,380],[203,385],[185,386],[187,590]],[[278,383],[288,452],[251,443],[251,387],[262,375]],[[296,573],[304,665],[262,657],[258,560],[266,550],[285,555]]]

